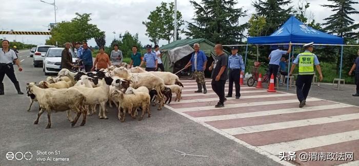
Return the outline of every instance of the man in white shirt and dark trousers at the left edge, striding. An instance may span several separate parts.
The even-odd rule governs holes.
[[[2,45],[3,49],[0,52],[0,95],[4,95],[3,80],[5,75],[8,76],[11,82],[15,85],[17,94],[24,94],[20,89],[18,81],[16,80],[12,61],[15,61],[19,72],[21,72],[23,68],[20,66],[20,62],[17,59],[15,52],[9,48],[10,42],[8,40],[3,40]]]

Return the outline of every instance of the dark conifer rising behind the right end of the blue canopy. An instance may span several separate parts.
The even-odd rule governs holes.
[[[333,5],[322,5],[323,7],[327,7],[332,9],[335,14],[330,15],[325,18],[326,23],[323,23],[325,30],[329,33],[336,34],[342,37],[352,37],[353,29],[359,27],[359,23],[353,25],[354,19],[350,18],[351,14],[359,14],[352,5],[358,4],[357,1],[352,0],[328,0],[332,2]]]

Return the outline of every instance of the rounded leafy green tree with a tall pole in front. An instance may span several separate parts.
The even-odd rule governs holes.
[[[167,40],[168,43],[174,39],[174,3],[162,2],[154,11],[150,12],[147,17],[148,21],[143,21],[146,26],[146,35],[154,44],[158,44],[161,39]],[[177,35],[182,31],[184,25],[182,13],[177,11]]]

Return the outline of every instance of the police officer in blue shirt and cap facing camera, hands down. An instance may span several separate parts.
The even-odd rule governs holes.
[[[242,69],[244,69],[244,62],[242,55],[238,55],[238,46],[232,46],[232,54],[228,57],[228,81],[229,81],[229,88],[228,94],[226,98],[232,97],[233,91],[233,82],[235,85],[235,99],[240,99],[241,97],[241,86],[240,86],[240,75]]]

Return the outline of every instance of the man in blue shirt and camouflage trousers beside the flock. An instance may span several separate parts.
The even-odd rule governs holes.
[[[198,90],[194,92],[201,93],[203,87],[203,93],[206,94],[207,88],[206,88],[204,71],[206,70],[207,57],[205,52],[200,50],[200,44],[195,43],[193,45],[193,49],[194,49],[194,53],[192,54],[191,60],[187,63],[185,67],[188,68],[190,65],[192,65],[192,72],[193,72],[192,78],[196,79],[198,86]]]

